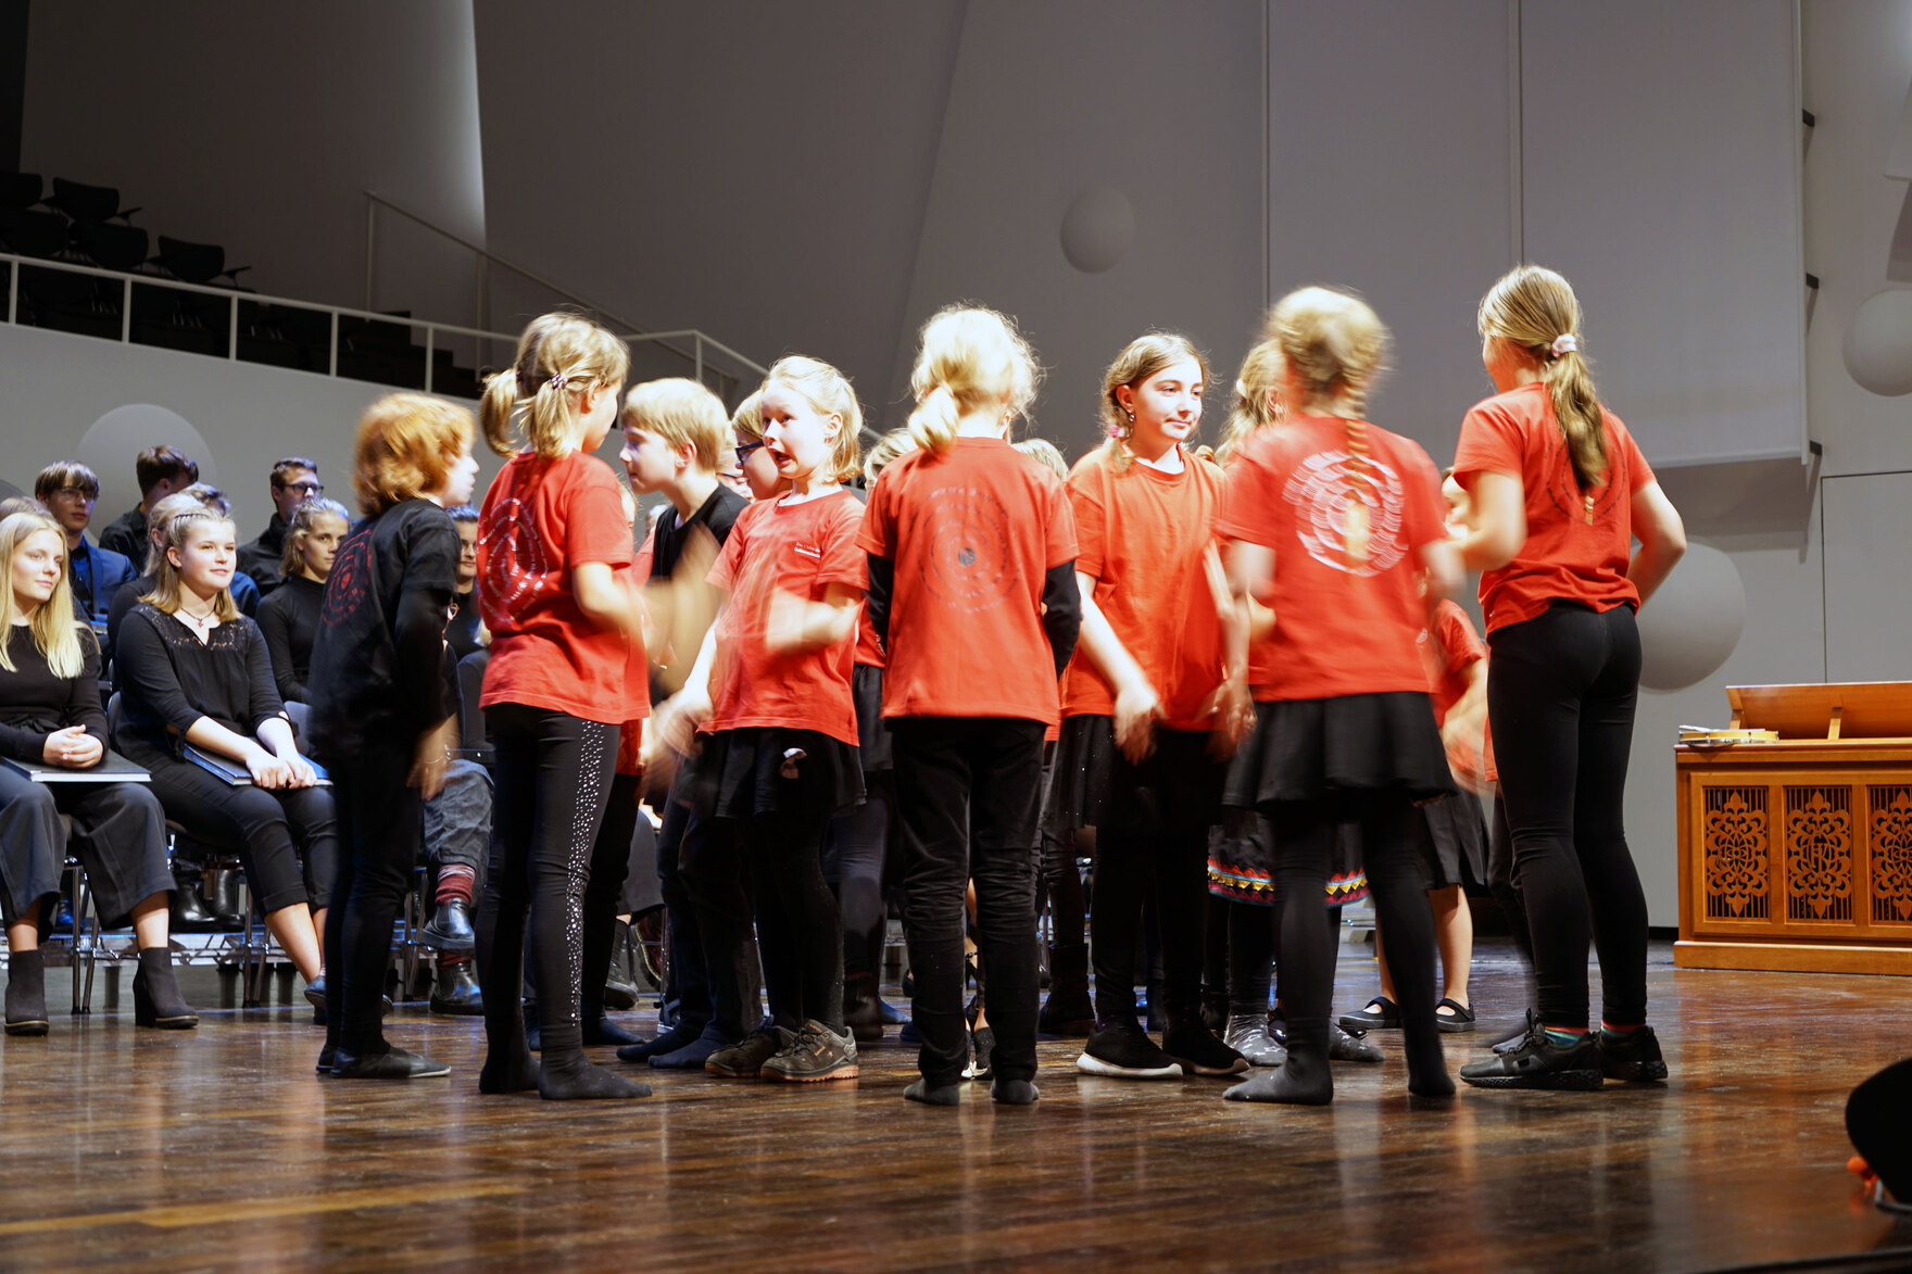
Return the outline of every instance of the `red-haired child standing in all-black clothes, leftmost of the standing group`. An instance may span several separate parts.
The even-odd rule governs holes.
[[[386,394],[359,421],[359,522],[338,549],[312,650],[312,736],[338,784],[344,853],[325,945],[340,970],[319,1067],[338,1079],[424,1079],[449,1067],[384,1039],[392,920],[411,884],[421,802],[444,786],[455,719],[445,614],[459,536],[444,505],[470,499],[472,417],[440,398]]]

